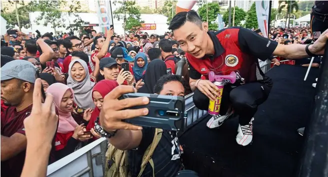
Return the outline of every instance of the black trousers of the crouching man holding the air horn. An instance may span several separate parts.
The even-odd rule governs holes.
[[[263,82],[246,83],[235,88],[224,86],[220,115],[224,115],[232,106],[234,113],[239,116],[239,124],[248,124],[256,113],[257,106],[267,99],[271,87]],[[209,99],[198,89],[194,91],[193,103],[200,110],[208,110]]]

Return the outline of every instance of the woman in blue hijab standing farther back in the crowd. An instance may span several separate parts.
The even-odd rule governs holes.
[[[145,53],[139,52],[135,55],[133,73],[135,82],[142,79],[142,76],[148,66],[148,60]]]

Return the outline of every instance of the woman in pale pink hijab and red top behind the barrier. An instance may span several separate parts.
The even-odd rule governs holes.
[[[71,116],[74,103],[74,93],[71,88],[62,83],[54,83],[48,87],[47,93],[53,96],[54,106],[58,110],[59,123],[54,148],[56,160],[59,160],[82,147],[79,141],[82,137],[78,132],[84,127],[83,124],[78,125]],[[87,137],[86,139],[92,138],[90,135]]]

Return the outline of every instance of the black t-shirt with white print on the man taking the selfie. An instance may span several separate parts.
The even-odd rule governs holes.
[[[142,139],[137,150],[128,151],[128,163],[132,177],[137,177],[145,150],[152,143],[155,128],[143,127]],[[182,169],[180,154],[182,147],[178,142],[176,132],[163,130],[162,137],[152,154],[156,177],[175,177]],[[152,168],[148,163],[141,177],[152,177]]]

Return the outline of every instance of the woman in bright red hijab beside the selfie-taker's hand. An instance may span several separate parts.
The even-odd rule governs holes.
[[[86,126],[86,130],[90,131],[96,139],[100,138],[101,136],[94,131],[93,127],[94,122],[96,121],[97,117],[99,117],[103,98],[117,86],[118,83],[116,81],[105,79],[96,83],[92,89],[92,98],[95,104],[95,109],[91,114],[91,118],[88,125]]]

